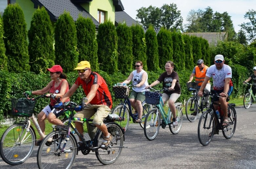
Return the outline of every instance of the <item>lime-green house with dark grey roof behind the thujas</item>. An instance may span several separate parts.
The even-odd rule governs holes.
[[[53,25],[65,10],[70,12],[74,21],[79,14],[85,18],[91,18],[96,29],[107,19],[110,19],[115,26],[124,22],[128,26],[137,24],[124,11],[121,0],[1,0],[0,13],[3,13],[6,6],[12,3],[19,4],[23,9],[27,30],[30,28],[33,12],[42,6],[46,8]]]

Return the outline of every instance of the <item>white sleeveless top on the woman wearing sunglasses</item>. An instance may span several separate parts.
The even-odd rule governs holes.
[[[139,84],[141,82],[142,74],[144,72],[145,72],[144,70],[142,70],[140,73],[137,73],[137,70],[132,71],[132,74],[133,74],[132,84],[133,85]],[[147,74],[147,72],[146,72],[146,74]],[[132,87],[132,90],[134,90],[135,92],[145,92],[148,90],[148,89],[145,89],[146,86],[148,86],[148,74],[147,74],[145,83],[143,85],[141,85],[140,87]]]

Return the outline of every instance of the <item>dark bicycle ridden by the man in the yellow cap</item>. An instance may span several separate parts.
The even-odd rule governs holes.
[[[84,108],[84,100],[81,109]],[[113,140],[106,148],[101,148],[103,142],[103,133],[101,130],[97,130],[94,139],[86,140],[81,135],[75,126],[71,123],[74,121],[92,122],[93,119],[86,118],[74,118],[75,108],[78,105],[73,102],[66,102],[62,107],[65,111],[70,110],[69,122],[67,125],[55,126],[53,131],[49,133],[39,146],[37,152],[37,164],[39,169],[42,168],[71,168],[75,161],[78,151],[81,150],[82,154],[87,155],[90,151],[95,152],[97,159],[102,164],[112,164],[121,155],[124,148],[124,130],[116,124],[115,119],[119,119],[119,116],[108,115],[104,123],[108,128],[108,132],[113,136]],[[78,148],[77,140],[72,134],[75,134],[83,141],[83,145]],[[86,132],[86,131],[85,131]],[[49,141],[50,140],[50,141]]]

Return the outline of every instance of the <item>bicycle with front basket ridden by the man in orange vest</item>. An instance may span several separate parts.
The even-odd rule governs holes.
[[[203,111],[207,109],[205,105],[205,96],[207,95],[204,93],[203,97],[201,97],[198,100],[197,92],[196,92],[198,83],[201,83],[201,82],[187,83],[188,91],[192,92],[192,96],[187,100],[186,107],[185,107],[187,120],[190,122],[194,122],[197,119],[200,111],[203,113]]]

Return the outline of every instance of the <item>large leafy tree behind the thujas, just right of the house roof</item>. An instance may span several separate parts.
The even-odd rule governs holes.
[[[178,10],[177,5],[172,3],[170,5],[164,4],[161,8],[142,7],[136,10],[138,13],[136,19],[144,28],[153,25],[154,27],[164,26],[167,29],[181,29],[183,30],[183,18],[181,12]]]

